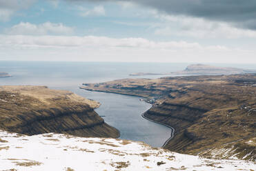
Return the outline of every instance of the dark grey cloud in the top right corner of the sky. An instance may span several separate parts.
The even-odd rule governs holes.
[[[117,1],[117,0],[67,0]],[[256,30],[255,0],[119,0],[139,3],[168,14],[182,14],[215,21],[226,21],[235,26]]]

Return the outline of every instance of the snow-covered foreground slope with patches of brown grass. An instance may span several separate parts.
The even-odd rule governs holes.
[[[142,142],[0,130],[0,170],[256,170],[249,161],[213,160]]]

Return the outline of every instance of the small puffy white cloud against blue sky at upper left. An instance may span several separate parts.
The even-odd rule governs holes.
[[[73,28],[64,26],[63,23],[41,23],[39,25],[32,23],[19,23],[12,28],[6,30],[8,34],[32,34],[32,35],[44,35],[44,34],[72,34]]]

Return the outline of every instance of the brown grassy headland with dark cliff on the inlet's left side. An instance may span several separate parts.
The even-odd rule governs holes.
[[[93,110],[99,103],[44,86],[1,86],[0,128],[33,135],[59,132],[79,137],[119,137]]]

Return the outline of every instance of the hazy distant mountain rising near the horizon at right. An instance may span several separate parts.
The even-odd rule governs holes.
[[[256,70],[244,70],[241,68],[216,67],[203,64],[193,64],[185,70],[172,72],[172,74],[246,74],[256,73]]]

